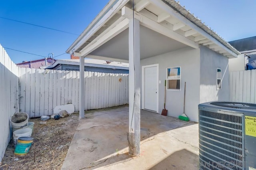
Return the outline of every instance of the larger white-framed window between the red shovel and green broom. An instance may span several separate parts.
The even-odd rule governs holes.
[[[167,89],[180,90],[180,67],[167,68]]]

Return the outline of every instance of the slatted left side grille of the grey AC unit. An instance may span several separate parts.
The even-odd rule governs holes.
[[[240,116],[199,109],[199,159],[203,170],[243,169],[243,126]]]

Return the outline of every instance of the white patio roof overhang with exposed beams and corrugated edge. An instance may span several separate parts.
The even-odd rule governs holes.
[[[132,0],[110,0],[66,52],[127,60],[132,9]],[[228,58],[240,54],[174,0],[134,0],[134,18],[140,21],[141,59],[199,44]]]

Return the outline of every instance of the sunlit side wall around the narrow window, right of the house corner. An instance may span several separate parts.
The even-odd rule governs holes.
[[[216,70],[221,69],[222,89],[216,88]],[[228,58],[200,45],[200,103],[229,100]]]

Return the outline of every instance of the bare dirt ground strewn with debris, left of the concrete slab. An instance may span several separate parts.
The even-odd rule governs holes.
[[[0,162],[0,170],[59,170],[78,126],[78,119],[78,113],[59,120],[49,119],[46,124],[40,124],[40,118],[30,119],[35,123],[32,132],[34,142],[28,154],[14,155],[11,140]]]

